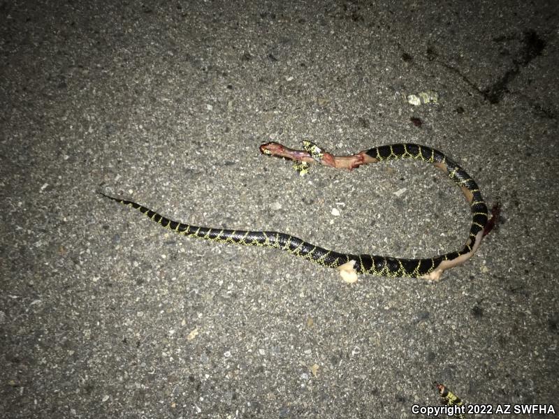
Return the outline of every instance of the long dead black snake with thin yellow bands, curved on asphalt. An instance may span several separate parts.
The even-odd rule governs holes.
[[[340,270],[344,280],[348,282],[354,282],[356,274],[372,274],[384,277],[415,277],[437,281],[444,270],[460,265],[473,256],[481,243],[481,239],[493,227],[494,219],[496,218],[495,211],[493,219],[488,219],[488,210],[484,203],[484,198],[481,197],[479,186],[477,186],[474,179],[457,163],[442,154],[442,152],[424,145],[409,143],[383,145],[352,156],[333,156],[333,154],[323,152],[311,142],[305,142],[305,151],[289,149],[277,142],[263,144],[260,150],[263,154],[284,157],[302,164],[303,166],[298,167],[300,171],[306,171],[308,164],[312,162],[349,170],[367,163],[398,159],[416,159],[433,163],[437,168],[446,172],[455,184],[460,186],[467,202],[470,203],[472,226],[470,227],[466,243],[461,250],[424,259],[392,258],[369,254],[353,255],[324,249],[305,242],[298,237],[275,231],[225,230],[223,228],[191,226],[167,219],[157,214],[157,212],[131,200],[114,198],[105,193],[101,193],[101,195],[115,200],[122,205],[133,207],[156,223],[161,224],[161,226],[179,234],[213,240],[215,242],[273,247],[286,250],[289,253],[312,260],[312,262],[319,263],[325,267],[337,268]]]

